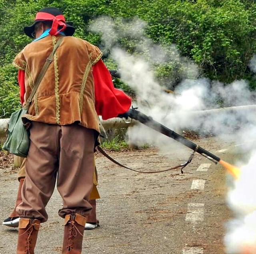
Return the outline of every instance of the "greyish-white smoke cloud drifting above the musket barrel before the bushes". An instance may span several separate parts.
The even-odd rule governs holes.
[[[243,111],[226,113],[222,110],[211,115],[195,113],[219,107],[254,104],[255,93],[250,91],[246,81],[235,81],[224,86],[220,82],[199,77],[198,67],[180,56],[174,44],[155,44],[145,35],[147,25],[144,21],[138,18],[129,22],[122,21],[122,25],[118,26],[111,18],[102,17],[92,23],[91,30],[102,34],[102,50],[111,52],[122,80],[136,91],[137,101],[133,104],[138,106],[138,110],[174,130],[196,129],[221,135],[230,134],[234,129],[240,129],[244,133],[243,128],[248,131],[248,126],[255,128],[254,111],[247,111],[246,114]],[[126,52],[122,49],[120,40],[131,40],[133,50]],[[154,76],[154,66],[170,62],[180,66],[181,70],[176,94],[164,93]],[[251,62],[252,69],[254,62]],[[168,80],[166,84],[172,84],[172,80]],[[241,123],[243,126],[240,126]],[[153,145],[162,147],[163,140],[166,144],[170,143],[170,139],[166,137],[160,142],[156,139],[152,141],[150,137],[156,133],[140,125],[133,128],[130,138],[133,135],[137,144],[147,142],[147,137]]]

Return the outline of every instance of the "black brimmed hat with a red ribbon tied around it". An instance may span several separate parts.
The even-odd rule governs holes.
[[[58,8],[46,7],[36,14],[35,22],[32,26],[24,27],[24,33],[33,38],[32,33],[34,32],[36,23],[46,20],[52,21],[51,35],[56,35],[62,31],[66,36],[72,36],[75,32],[73,22],[66,22],[63,13]],[[57,31],[58,27],[59,30]]]

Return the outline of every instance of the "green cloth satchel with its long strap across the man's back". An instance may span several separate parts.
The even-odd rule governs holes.
[[[46,73],[48,66],[52,62],[53,55],[56,49],[58,48],[58,46],[60,46],[60,43],[62,42],[62,40],[63,40],[63,36],[60,37],[54,49],[52,50],[52,53],[46,59],[46,62],[44,63],[44,66],[42,67],[38,75],[38,79],[36,80],[36,83],[32,89],[32,92],[28,97],[25,107],[12,113],[10,117],[10,120],[8,123],[8,130],[7,130],[7,139],[4,142],[2,149],[8,151],[11,154],[17,155],[19,157],[27,157],[28,155],[28,150],[30,146],[30,133],[26,129],[25,125],[23,124],[21,117],[28,112],[28,108],[36,93],[36,89],[38,88],[40,82],[42,81],[42,78],[44,77],[44,74]]]

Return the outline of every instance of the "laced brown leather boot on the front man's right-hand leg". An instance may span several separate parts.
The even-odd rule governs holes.
[[[62,254],[81,254],[86,217],[75,214],[65,216]]]

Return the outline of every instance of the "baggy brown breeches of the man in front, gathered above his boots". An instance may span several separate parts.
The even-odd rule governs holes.
[[[63,199],[59,215],[90,214],[93,187],[94,130],[79,125],[32,122],[30,149],[25,162],[22,203],[16,208],[22,218],[48,219],[45,206],[57,189]]]

